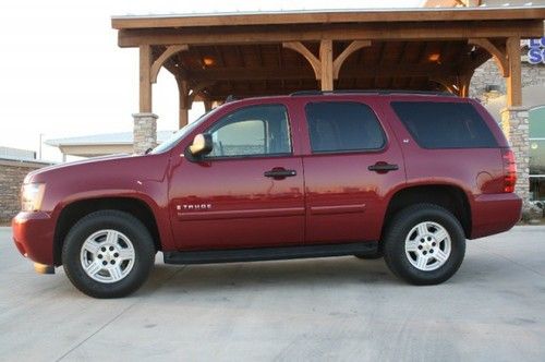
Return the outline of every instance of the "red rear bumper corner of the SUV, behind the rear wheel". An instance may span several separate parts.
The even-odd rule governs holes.
[[[511,229],[521,217],[522,200],[514,193],[483,194],[474,200],[471,238],[483,238]]]

